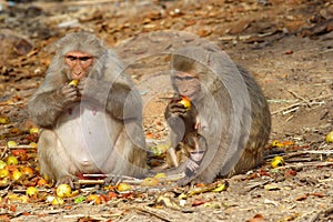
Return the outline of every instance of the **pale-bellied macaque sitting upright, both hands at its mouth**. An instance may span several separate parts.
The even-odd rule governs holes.
[[[28,103],[42,129],[41,173],[56,185],[72,186],[82,174],[143,175],[141,97],[120,60],[88,32],[69,33],[56,47],[44,81]]]

